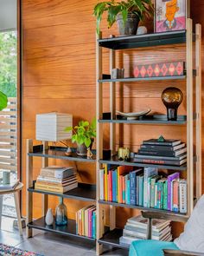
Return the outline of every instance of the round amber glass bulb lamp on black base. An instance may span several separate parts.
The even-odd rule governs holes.
[[[183,94],[181,89],[169,87],[163,90],[162,101],[167,108],[168,121],[177,121],[178,107],[182,103]]]

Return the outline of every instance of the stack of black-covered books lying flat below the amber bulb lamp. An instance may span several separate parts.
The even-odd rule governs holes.
[[[179,140],[158,141],[151,139],[143,144],[135,154],[135,162],[181,166],[187,162],[187,148]]]

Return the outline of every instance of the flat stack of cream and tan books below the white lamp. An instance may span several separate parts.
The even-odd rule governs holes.
[[[72,167],[43,167],[35,182],[35,189],[61,194],[76,187],[78,182]]]

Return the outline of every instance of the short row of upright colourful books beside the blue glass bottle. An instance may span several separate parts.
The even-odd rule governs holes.
[[[76,233],[96,239],[96,207],[89,206],[76,213]]]

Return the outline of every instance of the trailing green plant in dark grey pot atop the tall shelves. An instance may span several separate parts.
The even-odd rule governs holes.
[[[139,21],[144,16],[153,16],[151,0],[126,0],[116,2],[115,0],[101,2],[94,7],[93,15],[97,20],[97,33],[104,12],[107,12],[107,23],[110,29],[117,22],[120,35],[136,35]]]

